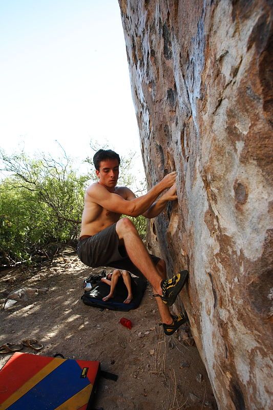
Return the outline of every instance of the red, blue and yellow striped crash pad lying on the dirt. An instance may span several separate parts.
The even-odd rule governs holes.
[[[14,353],[0,371],[0,410],[88,410],[99,361]]]

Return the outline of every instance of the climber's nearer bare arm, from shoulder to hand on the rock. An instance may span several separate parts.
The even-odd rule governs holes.
[[[130,201],[123,199],[120,195],[110,193],[98,183],[91,185],[87,190],[87,194],[91,197],[92,202],[98,203],[108,211],[136,217],[148,210],[165,189],[172,187],[175,179],[176,172],[172,172],[166,175],[145,195]]]

